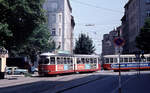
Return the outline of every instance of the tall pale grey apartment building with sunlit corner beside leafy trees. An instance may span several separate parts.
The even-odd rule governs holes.
[[[43,7],[56,49],[72,53],[75,22],[69,0],[46,0]]]

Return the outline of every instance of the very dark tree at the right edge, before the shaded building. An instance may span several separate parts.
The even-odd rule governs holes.
[[[136,46],[145,53],[150,53],[150,19],[146,19],[143,28],[136,37]]]

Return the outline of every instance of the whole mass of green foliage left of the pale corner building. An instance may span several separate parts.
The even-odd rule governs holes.
[[[0,0],[0,46],[11,56],[50,51],[50,33],[44,26],[45,0]]]

